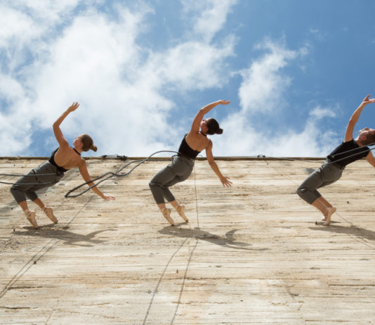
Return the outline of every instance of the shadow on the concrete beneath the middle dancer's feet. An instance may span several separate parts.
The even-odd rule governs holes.
[[[251,246],[249,243],[241,243],[239,241],[235,241],[233,235],[238,229],[233,229],[228,231],[225,234],[225,237],[218,236],[209,233],[209,231],[204,231],[199,228],[191,229],[191,228],[180,228],[179,226],[185,224],[185,222],[181,222],[180,224],[175,224],[174,227],[167,226],[163,229],[160,229],[158,232],[159,234],[164,235],[172,235],[178,236],[181,238],[198,238],[202,241],[209,241],[209,243],[214,243],[219,246],[224,246],[228,248],[235,248],[240,250],[268,250],[268,248],[246,248],[245,246]]]

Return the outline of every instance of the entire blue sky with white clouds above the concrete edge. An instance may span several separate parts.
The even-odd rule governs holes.
[[[49,155],[52,124],[95,155],[177,150],[197,110],[214,155],[324,156],[375,97],[371,0],[0,3],[0,155]],[[366,106],[357,128],[375,126]],[[93,154],[88,153],[88,155]]]

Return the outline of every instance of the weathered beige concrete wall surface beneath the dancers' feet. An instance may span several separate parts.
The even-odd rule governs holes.
[[[39,163],[3,159],[0,170]],[[89,171],[122,164],[89,160]],[[375,324],[375,170],[365,160],[322,189],[338,209],[329,227],[295,194],[320,162],[218,160],[228,189],[197,161],[173,187],[190,217],[174,212],[175,227],[148,189],[165,165],[107,180],[115,202],[64,198],[81,184],[68,172],[41,196],[59,223],[38,210],[37,231],[0,184],[0,324]]]

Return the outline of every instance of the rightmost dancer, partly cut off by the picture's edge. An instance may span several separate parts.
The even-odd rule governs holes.
[[[325,200],[317,189],[337,181],[341,177],[346,165],[353,163],[355,160],[366,158],[375,167],[375,158],[367,146],[375,143],[375,129],[365,127],[360,130],[357,138],[353,139],[353,130],[362,113],[362,109],[369,103],[375,103],[375,98],[369,99],[369,96],[367,95],[364,98],[352,117],[350,117],[343,143],[335,148],[327,156],[327,160],[323,165],[310,174],[297,189],[298,196],[301,196],[303,200],[322,212],[322,220],[325,221],[325,226],[328,226],[331,222],[331,215],[334,214],[336,208]]]

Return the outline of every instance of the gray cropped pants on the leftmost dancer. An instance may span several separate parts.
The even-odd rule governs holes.
[[[25,201],[26,197],[32,201],[36,200],[38,196],[35,191],[57,183],[64,176],[64,173],[58,172],[57,167],[46,161],[31,170],[27,175],[32,176],[22,176],[11,187],[11,193],[17,203]]]

